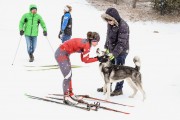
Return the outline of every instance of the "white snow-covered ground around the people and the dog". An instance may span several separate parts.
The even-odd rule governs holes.
[[[36,4],[38,13],[43,17],[48,28],[48,39],[39,29],[35,61],[28,62],[24,36],[21,39],[16,59],[14,55],[20,41],[18,30],[21,16],[29,11],[30,4]],[[141,58],[143,87],[147,99],[142,102],[142,95],[138,92],[135,98],[128,96],[132,90],[124,84],[124,95],[111,97],[111,101],[134,105],[128,108],[108,103],[104,106],[130,112],[124,115],[99,109],[98,112],[83,111],[68,106],[32,100],[24,94],[46,96],[50,93],[62,93],[63,77],[59,69],[46,71],[28,71],[30,67],[56,64],[54,50],[60,40],[60,18],[63,7],[72,5],[73,36],[86,37],[87,31],[97,31],[101,35],[98,47],[103,48],[106,36],[106,23],[100,15],[104,11],[97,11],[85,0],[46,0],[45,2],[28,1],[0,1],[0,119],[1,120],[59,120],[59,119],[121,119],[121,120],[179,120],[180,108],[180,24],[164,24],[158,22],[128,22],[130,26],[130,53],[126,65],[134,66],[133,57]],[[154,31],[158,31],[154,32]],[[49,41],[48,41],[49,40]],[[49,43],[50,42],[50,43]],[[51,46],[53,50],[51,49]],[[96,48],[92,48],[94,56]],[[104,99],[102,93],[96,92],[103,85],[98,71],[98,62],[84,64],[79,54],[71,55],[72,65],[82,65],[73,69],[73,88],[76,94],[89,94]],[[114,87],[114,84],[113,84]]]

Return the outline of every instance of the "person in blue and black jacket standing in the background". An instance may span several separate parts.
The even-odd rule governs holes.
[[[72,11],[72,7],[66,5],[64,7],[64,15],[61,18],[61,26],[59,32],[59,39],[62,40],[62,43],[69,40],[72,36],[72,17],[70,12]]]

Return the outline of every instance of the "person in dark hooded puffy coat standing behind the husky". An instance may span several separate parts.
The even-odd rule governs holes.
[[[104,46],[106,52],[112,53],[110,58],[113,64],[124,65],[129,52],[129,26],[115,8],[108,8],[101,17],[107,22],[107,36]],[[123,83],[124,81],[116,84],[111,96],[123,94]],[[98,88],[97,91],[103,92],[103,88]]]

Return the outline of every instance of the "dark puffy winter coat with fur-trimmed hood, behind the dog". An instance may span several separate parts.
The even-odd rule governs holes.
[[[112,20],[115,25],[108,24],[105,48],[109,49],[114,57],[127,54],[129,52],[129,26],[120,17],[115,8],[108,8],[101,16],[104,20]]]

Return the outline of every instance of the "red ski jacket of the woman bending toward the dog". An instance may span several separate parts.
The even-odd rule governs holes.
[[[60,45],[60,49],[66,51],[68,54],[75,52],[81,53],[81,61],[85,63],[98,61],[97,58],[89,58],[90,47],[89,41],[82,38],[72,38]]]

